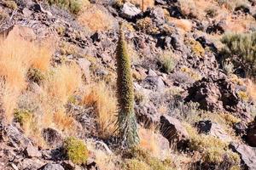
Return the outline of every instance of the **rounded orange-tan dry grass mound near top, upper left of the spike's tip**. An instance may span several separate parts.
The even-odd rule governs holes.
[[[79,22],[90,31],[107,31],[113,27],[113,17],[96,5],[89,5],[79,15]]]

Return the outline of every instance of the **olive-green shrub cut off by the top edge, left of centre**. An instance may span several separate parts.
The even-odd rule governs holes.
[[[79,14],[87,2],[87,0],[48,0],[50,5],[55,4],[61,8],[66,8],[73,14]]]

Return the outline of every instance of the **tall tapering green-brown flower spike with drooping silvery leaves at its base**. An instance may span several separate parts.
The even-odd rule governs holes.
[[[118,126],[123,144],[131,148],[138,144],[137,120],[134,112],[134,92],[131,77],[131,60],[127,53],[122,24],[119,24],[119,42],[116,49],[117,92],[119,103]]]

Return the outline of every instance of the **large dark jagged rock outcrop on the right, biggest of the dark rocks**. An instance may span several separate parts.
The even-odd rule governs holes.
[[[235,84],[225,77],[204,77],[188,89],[186,102],[200,104],[206,111],[230,111],[244,119],[251,119],[243,101],[236,94]]]

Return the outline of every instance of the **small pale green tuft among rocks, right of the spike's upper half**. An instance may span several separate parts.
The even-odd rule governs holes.
[[[172,51],[165,51],[159,59],[162,70],[166,73],[172,72],[177,65],[177,59],[174,58]]]

